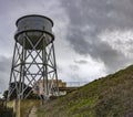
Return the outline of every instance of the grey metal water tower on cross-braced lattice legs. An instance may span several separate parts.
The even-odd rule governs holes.
[[[58,75],[54,54],[53,22],[43,15],[25,15],[17,23],[14,52],[9,82],[8,99],[17,95],[24,99],[43,81],[41,98],[58,95]]]

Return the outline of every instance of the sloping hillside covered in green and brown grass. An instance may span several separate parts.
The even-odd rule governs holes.
[[[133,65],[47,103],[39,117],[133,117]]]

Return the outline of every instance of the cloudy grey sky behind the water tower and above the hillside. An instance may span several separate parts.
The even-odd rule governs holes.
[[[133,63],[133,0],[0,0],[0,92],[8,88],[16,21],[53,20],[59,78],[91,82]]]

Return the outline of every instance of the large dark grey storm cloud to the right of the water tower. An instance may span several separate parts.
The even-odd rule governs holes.
[[[99,35],[105,30],[133,30],[133,1],[62,0],[62,6],[70,18],[66,40],[75,52],[104,62],[110,72],[131,61]]]

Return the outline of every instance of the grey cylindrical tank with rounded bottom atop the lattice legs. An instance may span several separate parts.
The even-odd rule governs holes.
[[[47,17],[37,14],[25,15],[17,21],[18,30],[14,39],[27,50],[31,50],[33,46],[37,50],[41,50],[54,40],[52,26],[52,20]]]

